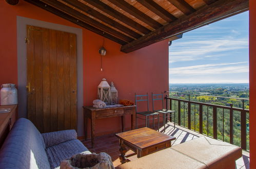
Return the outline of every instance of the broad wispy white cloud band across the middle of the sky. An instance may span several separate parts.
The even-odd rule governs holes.
[[[175,41],[174,41],[175,42]],[[191,61],[205,57],[226,56],[225,52],[248,49],[248,39],[232,37],[180,41],[169,48],[169,63]],[[220,54],[221,53],[221,54]]]

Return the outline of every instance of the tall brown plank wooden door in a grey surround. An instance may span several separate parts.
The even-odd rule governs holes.
[[[27,113],[41,133],[77,128],[76,35],[27,25]]]

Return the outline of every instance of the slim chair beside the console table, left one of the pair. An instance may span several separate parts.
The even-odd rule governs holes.
[[[143,99],[143,97],[146,97],[146,99]],[[148,110],[143,111],[143,112],[137,112],[138,102],[141,102],[141,101],[147,101],[147,109]],[[157,125],[158,125],[158,130],[157,131],[159,131],[159,113],[149,111],[148,93],[146,95],[136,95],[136,93],[135,93],[135,104],[136,104],[136,107],[135,107],[135,110],[136,110],[136,129],[137,129],[137,118],[145,120],[147,128],[149,127],[149,120],[153,120],[153,128],[154,128],[154,119],[157,119]],[[145,116],[145,118],[140,118],[138,115]],[[152,116],[152,118],[149,118],[151,116]],[[154,116],[157,116],[157,118],[155,118]]]

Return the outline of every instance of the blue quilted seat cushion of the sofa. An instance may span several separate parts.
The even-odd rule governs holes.
[[[46,148],[51,168],[59,167],[61,162],[78,153],[91,154],[84,144],[75,139]]]

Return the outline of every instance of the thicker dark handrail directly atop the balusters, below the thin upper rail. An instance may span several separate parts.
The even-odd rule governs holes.
[[[210,104],[210,103],[204,103],[204,102],[198,102],[198,101],[191,101],[191,100],[184,100],[184,99],[179,99],[179,98],[173,98],[173,97],[165,97],[167,99],[172,99],[172,100],[177,100],[177,101],[184,101],[184,102],[190,102],[193,104],[202,104],[202,105],[207,105],[210,107],[217,107],[217,108],[221,108],[221,109],[228,109],[228,110],[234,110],[234,111],[245,111],[247,113],[249,113],[248,109],[242,109],[242,108],[234,108],[234,107],[228,107],[226,105],[219,105],[219,104]]]

